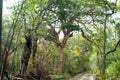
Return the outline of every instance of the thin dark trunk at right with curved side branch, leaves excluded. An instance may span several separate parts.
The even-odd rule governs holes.
[[[107,40],[107,34],[106,34],[106,28],[107,28],[107,19],[109,16],[111,16],[112,14],[114,14],[115,12],[115,8],[116,8],[116,5],[117,5],[117,1],[118,0],[115,0],[115,3],[114,3],[114,6],[110,5],[110,3],[108,3],[107,1],[104,1],[104,5],[105,5],[105,19],[104,19],[104,48],[103,48],[103,66],[102,66],[102,74],[104,75],[105,74],[105,69],[106,69],[106,57],[107,57],[107,54],[111,53],[111,52],[114,52],[118,46],[118,44],[120,43],[120,40],[118,41],[118,43],[116,44],[114,50],[111,50],[111,51],[108,51],[106,52],[106,40]],[[108,13],[108,8],[107,8],[107,5],[109,6],[109,8],[111,9],[111,13]]]

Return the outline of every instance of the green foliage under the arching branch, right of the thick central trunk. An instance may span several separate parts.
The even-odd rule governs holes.
[[[74,53],[76,44],[80,47],[80,54],[78,55]],[[89,49],[86,45],[88,45],[88,43],[85,42],[80,35],[74,35],[68,40],[67,46],[64,49],[64,72],[68,72],[70,75],[74,76],[80,72],[89,70],[90,53],[84,52],[86,48]]]

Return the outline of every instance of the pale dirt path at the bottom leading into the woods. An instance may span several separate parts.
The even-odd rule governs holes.
[[[74,76],[69,80],[95,80],[95,79],[91,73],[85,72],[85,73],[78,74],[77,76]]]

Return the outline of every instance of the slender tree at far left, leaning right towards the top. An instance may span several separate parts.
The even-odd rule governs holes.
[[[7,35],[7,39],[6,39],[4,50],[3,50],[3,57],[1,58],[2,59],[2,64],[1,64],[2,68],[1,68],[1,75],[0,75],[1,80],[3,80],[4,75],[9,80],[9,76],[8,76],[9,74],[8,74],[8,71],[7,71],[7,69],[8,69],[8,55],[9,55],[9,53],[14,52],[16,50],[16,48],[18,48],[18,46],[17,46],[16,48],[14,48],[12,50],[12,43],[13,43],[13,39],[14,39],[14,35],[15,35],[16,25],[17,25],[18,18],[19,18],[19,15],[21,13],[23,4],[24,4],[24,1],[21,4],[20,10],[17,7],[15,12],[18,11],[18,14],[15,15],[15,18],[13,19],[13,22],[10,25],[9,33]],[[20,45],[20,44],[18,44],[18,45]]]

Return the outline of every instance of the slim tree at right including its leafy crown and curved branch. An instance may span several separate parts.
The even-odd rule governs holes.
[[[119,40],[118,40],[114,49],[107,51],[108,50],[108,48],[107,48],[108,40],[110,40],[110,37],[108,37],[108,31],[107,31],[109,28],[108,24],[110,24],[109,21],[111,21],[110,18],[112,17],[112,15],[117,12],[117,4],[118,4],[118,0],[114,0],[113,2],[110,2],[107,0],[95,2],[96,8],[93,10],[94,13],[91,16],[92,20],[93,20],[93,24],[95,24],[95,22],[97,22],[97,24],[95,26],[97,28],[97,31],[102,32],[101,34],[103,35],[103,36],[101,36],[101,38],[103,38],[103,42],[102,42],[103,50],[100,51],[100,53],[102,54],[102,74],[103,74],[103,76],[105,76],[105,70],[106,70],[106,66],[107,66],[106,65],[107,55],[111,52],[114,52],[119,45]],[[97,8],[99,8],[99,9],[97,10]],[[103,28],[101,28],[101,30],[103,30],[103,31],[99,30],[100,27],[97,27],[97,26],[99,26],[99,24],[100,24],[100,26],[103,27]],[[94,28],[94,29],[96,30],[96,28]],[[97,46],[95,40],[93,43]],[[97,46],[97,47],[100,47],[100,46]]]

